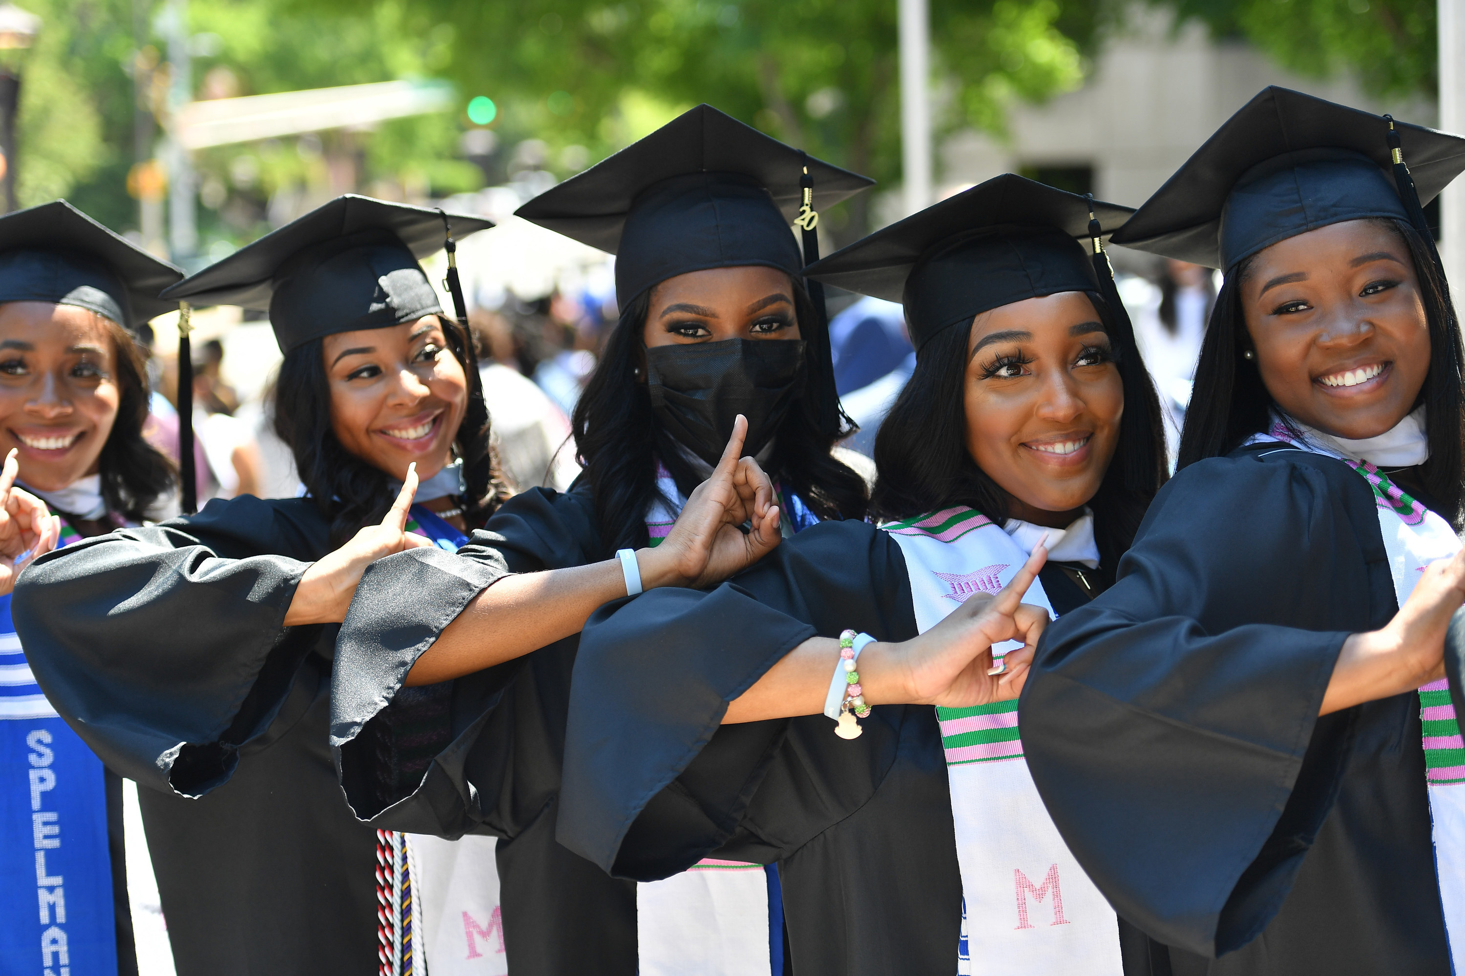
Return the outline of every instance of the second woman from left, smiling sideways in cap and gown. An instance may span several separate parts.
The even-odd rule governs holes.
[[[341,803],[327,691],[335,625],[362,568],[401,549],[466,544],[464,531],[504,496],[466,334],[418,265],[442,244],[447,219],[343,196],[179,284],[170,296],[270,310],[286,354],[277,430],[308,496],[214,502],[88,540],[18,590],[47,695],[100,757],[154,787],[141,795],[142,815],[180,973],[410,963],[397,931],[413,917],[404,841]],[[460,233],[488,225],[451,222]],[[725,470],[724,487],[735,461]],[[722,527],[746,550],[734,525],[747,512],[734,508],[689,512],[713,512],[706,533]],[[768,517],[769,533],[775,522]],[[668,536],[671,562],[689,549],[684,525]],[[607,572],[621,585],[618,563],[590,569],[538,581],[541,625],[579,613],[577,629],[589,612],[577,607],[624,593],[596,596]],[[513,598],[513,584],[501,594]],[[406,617],[404,604],[425,597],[403,588],[374,598]],[[451,852],[447,863],[437,853],[450,876]]]

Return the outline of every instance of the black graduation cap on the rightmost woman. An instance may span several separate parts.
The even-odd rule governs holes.
[[[1226,269],[1280,240],[1349,219],[1406,219],[1428,239],[1420,205],[1462,170],[1459,136],[1264,88],[1113,243]]]

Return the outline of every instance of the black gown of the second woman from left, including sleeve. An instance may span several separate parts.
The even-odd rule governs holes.
[[[12,613],[37,682],[136,780],[180,976],[371,973],[375,834],[331,751],[335,626],[283,626],[331,550],[306,499],[209,502],[42,556]]]

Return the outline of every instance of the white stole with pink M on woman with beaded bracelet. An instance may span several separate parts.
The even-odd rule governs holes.
[[[900,544],[924,634],[967,597],[999,591],[1027,553],[980,512],[960,506],[882,525]],[[1023,598],[1052,604],[1037,579]],[[992,648],[1002,657],[1023,647]],[[957,827],[963,976],[1122,976],[1119,922],[1078,866],[1023,759],[1017,701],[936,708]]]

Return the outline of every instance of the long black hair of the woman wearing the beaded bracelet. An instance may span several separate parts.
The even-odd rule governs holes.
[[[1134,541],[1144,509],[1165,481],[1165,429],[1160,401],[1132,335],[1116,329],[1097,291],[1084,293],[1113,342],[1124,383],[1119,443],[1090,502],[1099,571],[1112,581],[1119,556]],[[930,337],[916,356],[916,372],[875,436],[879,480],[870,508],[882,519],[904,519],[968,505],[987,518],[1008,518],[1008,495],[977,467],[967,449],[967,344],[971,322]]]

